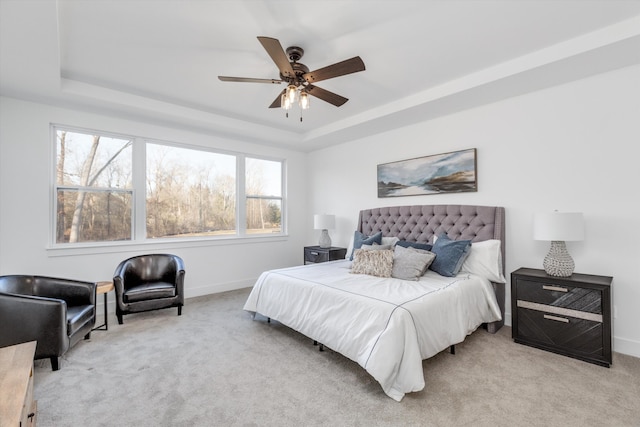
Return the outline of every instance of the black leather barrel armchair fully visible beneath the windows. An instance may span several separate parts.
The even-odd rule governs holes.
[[[113,277],[116,316],[184,305],[184,262],[171,254],[139,255],[118,265]]]

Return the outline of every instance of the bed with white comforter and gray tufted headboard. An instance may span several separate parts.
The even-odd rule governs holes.
[[[436,245],[449,241],[456,246],[471,241],[468,256],[455,275],[429,269],[408,281],[354,274],[361,256],[378,251],[365,250],[367,245],[350,248],[347,257],[355,254],[354,260],[262,273],[244,309],[254,318],[259,313],[277,320],[357,362],[389,397],[400,401],[406,393],[424,388],[422,360],[453,349],[481,325],[490,333],[503,325],[504,215],[503,207],[474,205],[362,210],[356,246],[361,243],[358,235],[381,235],[386,242],[399,239],[406,245],[429,244],[434,251]],[[440,243],[434,244],[434,237]],[[372,246],[368,248],[375,249]],[[485,257],[489,246],[493,256]],[[378,253],[388,256],[389,252]],[[493,273],[485,274],[483,268]]]

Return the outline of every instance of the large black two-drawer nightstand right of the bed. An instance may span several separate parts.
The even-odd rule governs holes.
[[[517,343],[609,367],[612,277],[511,273],[512,337]]]

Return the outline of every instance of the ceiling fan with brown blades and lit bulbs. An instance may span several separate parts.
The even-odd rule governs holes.
[[[258,40],[267,51],[273,62],[280,71],[280,79],[255,79],[247,77],[218,76],[223,82],[248,82],[248,83],[287,83],[287,89],[283,90],[278,97],[269,105],[269,108],[284,108],[289,110],[295,100],[299,101],[300,107],[306,109],[309,106],[308,95],[315,96],[329,104],[340,107],[349,99],[315,86],[313,83],[344,76],[346,74],[364,71],[364,62],[359,56],[328,65],[315,71],[298,62],[304,50],[298,46],[288,47],[285,51],[277,39],[271,37],[258,37]],[[288,117],[288,112],[287,112]],[[300,117],[302,121],[302,117]]]

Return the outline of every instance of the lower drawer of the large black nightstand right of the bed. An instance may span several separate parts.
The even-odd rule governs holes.
[[[560,353],[573,356],[602,359],[605,357],[602,328],[602,322],[518,308],[516,341],[555,351],[561,349]]]

